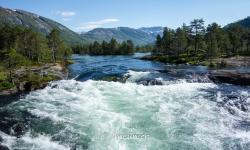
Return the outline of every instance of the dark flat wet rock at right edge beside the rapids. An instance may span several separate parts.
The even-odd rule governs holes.
[[[213,71],[209,79],[215,83],[230,83],[235,85],[250,86],[250,74],[236,71]]]

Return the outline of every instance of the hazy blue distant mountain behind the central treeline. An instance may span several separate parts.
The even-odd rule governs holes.
[[[150,28],[96,28],[89,32],[82,33],[81,37],[84,39],[90,39],[93,41],[109,41],[111,38],[117,39],[119,42],[125,40],[132,40],[136,45],[153,44],[155,42],[156,35],[162,33],[162,27],[150,27]]]

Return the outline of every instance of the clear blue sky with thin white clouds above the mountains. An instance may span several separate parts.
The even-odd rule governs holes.
[[[81,32],[96,27],[176,28],[194,18],[221,25],[250,16],[250,0],[1,0]]]

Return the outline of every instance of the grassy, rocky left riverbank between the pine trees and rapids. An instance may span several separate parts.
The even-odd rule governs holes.
[[[40,89],[50,81],[66,78],[66,66],[62,63],[21,66],[12,70],[11,77],[8,70],[1,68],[0,95]]]

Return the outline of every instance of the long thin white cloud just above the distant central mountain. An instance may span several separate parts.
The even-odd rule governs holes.
[[[77,30],[91,30],[94,28],[100,28],[103,25],[110,24],[110,23],[115,23],[119,22],[119,19],[102,19],[98,21],[93,21],[93,22],[86,22],[78,26],[76,29]]]

